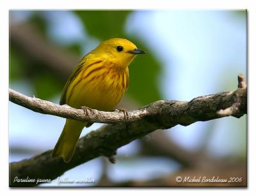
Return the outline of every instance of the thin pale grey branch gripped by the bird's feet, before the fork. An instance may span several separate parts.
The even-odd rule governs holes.
[[[34,112],[42,114],[51,114],[54,116],[60,116],[64,118],[76,119],[79,121],[86,121],[90,123],[123,123],[123,112],[104,112],[92,109],[93,112],[84,113],[83,109],[74,109],[68,105],[58,105],[56,103],[41,100],[35,97],[28,97],[13,89],[9,89],[9,100],[17,105],[26,107]],[[160,101],[164,102],[164,101]],[[126,122],[135,121],[141,119],[141,117],[147,116],[146,109],[134,110],[129,112],[129,117],[125,119]]]

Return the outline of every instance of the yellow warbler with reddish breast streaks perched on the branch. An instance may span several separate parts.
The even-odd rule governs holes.
[[[60,104],[79,109],[112,110],[124,95],[129,84],[128,66],[137,54],[145,54],[131,41],[113,38],[103,41],[86,54],[69,77]],[[92,124],[67,119],[52,158],[62,156],[70,162],[77,140],[84,128]]]

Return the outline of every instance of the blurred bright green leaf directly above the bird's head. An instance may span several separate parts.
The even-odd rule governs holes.
[[[124,25],[131,11],[75,11],[91,36],[100,40],[124,36]]]

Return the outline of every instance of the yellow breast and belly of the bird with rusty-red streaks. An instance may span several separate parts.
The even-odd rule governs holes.
[[[97,66],[89,75],[73,85],[68,105],[87,106],[97,110],[112,110],[120,102],[129,83],[129,70],[123,72],[112,66]],[[76,80],[74,81],[76,82]]]

